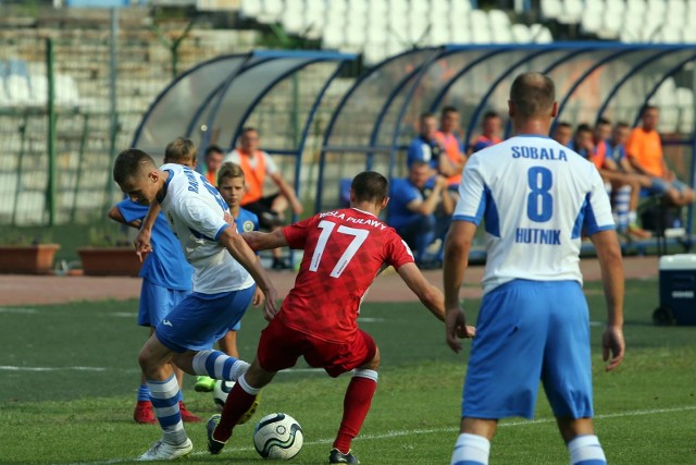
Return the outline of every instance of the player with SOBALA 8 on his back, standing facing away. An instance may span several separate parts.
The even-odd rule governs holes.
[[[465,325],[459,291],[482,220],[486,235],[484,297],[476,323],[452,464],[487,464],[500,418],[534,414],[539,380],[568,444],[571,464],[606,464],[594,435],[587,302],[580,245],[594,243],[608,322],[607,369],[623,358],[623,265],[609,198],[595,167],[547,137],[555,86],[538,73],[510,90],[514,136],[474,154],[445,248],[447,342],[461,348]]]

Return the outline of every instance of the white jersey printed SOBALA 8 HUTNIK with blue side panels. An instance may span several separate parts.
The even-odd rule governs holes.
[[[582,283],[582,234],[613,229],[594,164],[556,140],[519,135],[475,152],[453,220],[484,220],[484,293],[514,279]]]

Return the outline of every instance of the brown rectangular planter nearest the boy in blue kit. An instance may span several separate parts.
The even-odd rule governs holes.
[[[133,247],[83,247],[77,254],[86,276],[137,277],[142,265]]]

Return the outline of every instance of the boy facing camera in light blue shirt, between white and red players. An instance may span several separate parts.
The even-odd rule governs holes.
[[[239,233],[259,231],[259,217],[249,210],[241,208],[240,201],[246,192],[245,176],[241,167],[232,161],[224,162],[217,171],[217,191],[229,206],[229,212],[234,217],[235,225]],[[258,254],[257,254],[258,256]],[[259,307],[263,303],[263,292],[257,287],[251,304]],[[241,322],[229,328],[229,331],[217,341],[220,350],[227,355],[239,358],[237,350],[237,331]],[[211,392],[215,387],[215,380],[207,376],[196,377],[196,391]]]

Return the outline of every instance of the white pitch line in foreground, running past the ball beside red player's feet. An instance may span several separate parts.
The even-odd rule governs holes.
[[[644,416],[644,415],[660,415],[660,414],[671,414],[671,413],[675,413],[675,412],[688,412],[688,411],[696,411],[696,406],[692,405],[692,406],[685,406],[685,407],[674,407],[674,408],[651,408],[651,409],[646,409],[646,411],[629,411],[629,412],[621,412],[621,413],[616,413],[616,414],[606,414],[606,415],[597,415],[594,417],[594,419],[608,419],[608,418],[622,418],[622,417],[633,417],[633,416]],[[499,428],[510,428],[510,427],[515,427],[515,426],[529,426],[529,425],[538,425],[538,424],[548,424],[548,423],[556,423],[556,418],[539,418],[539,419],[534,419],[534,420],[523,420],[523,421],[510,421],[510,423],[501,423],[500,425],[498,425]],[[385,433],[382,435],[364,435],[364,436],[360,436],[358,438],[356,438],[357,442],[360,441],[370,441],[373,439],[388,439],[388,438],[398,438],[398,437],[402,437],[402,436],[417,436],[417,435],[433,435],[436,432],[457,432],[459,428],[457,428],[457,426],[452,426],[450,428],[431,428],[431,429],[411,429],[411,430],[407,430],[407,431],[387,431]],[[320,444],[331,444],[332,442],[334,442],[334,438],[332,439],[318,439],[315,441],[306,441],[304,445],[320,445]],[[247,448],[229,448],[229,449],[225,449],[223,450],[223,453],[228,453],[228,452],[246,452],[246,451],[251,451],[252,448],[251,446],[247,446]],[[203,455],[209,455],[208,452],[194,452],[191,455],[195,456],[203,456]],[[89,462],[89,464],[92,465],[110,465],[110,464],[121,464],[121,463],[126,463],[126,462],[133,462],[135,460],[135,457],[133,458],[112,458],[109,461],[102,461],[102,462]],[[75,463],[75,464],[71,464],[71,465],[87,465],[86,462],[80,462],[80,463]]]

